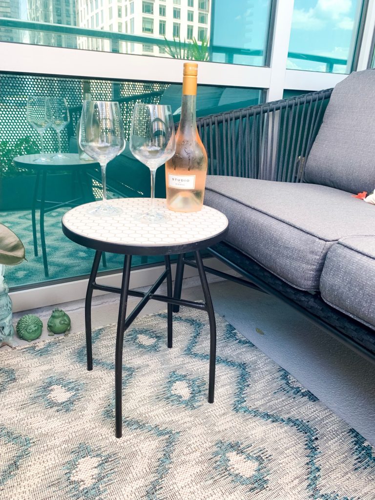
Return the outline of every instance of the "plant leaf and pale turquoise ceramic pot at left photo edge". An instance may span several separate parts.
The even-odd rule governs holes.
[[[5,265],[16,265],[25,258],[22,241],[13,231],[0,224],[0,347],[14,347],[11,300],[4,280]]]

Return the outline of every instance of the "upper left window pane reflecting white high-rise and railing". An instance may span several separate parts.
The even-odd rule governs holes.
[[[158,49],[148,52],[170,57],[164,37],[174,37],[186,44],[181,53],[191,53],[194,40],[206,47],[200,55],[195,51],[198,60],[262,65],[270,3],[236,0],[229,8],[222,0],[4,0],[0,40],[137,54],[153,45]],[[16,20],[12,27],[8,17]],[[54,25],[53,31],[45,24]],[[77,34],[76,28],[86,32]]]

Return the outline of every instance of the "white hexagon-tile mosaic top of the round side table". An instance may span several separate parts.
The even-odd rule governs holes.
[[[149,198],[120,198],[108,203],[121,208],[121,213],[99,217],[88,210],[100,203],[79,205],[62,217],[63,225],[72,233],[96,241],[140,247],[174,246],[210,239],[225,230],[228,220],[214,208],[203,205],[198,212],[174,212],[166,208],[165,199],[155,199],[155,209],[168,217],[166,222],[139,220],[150,207]]]

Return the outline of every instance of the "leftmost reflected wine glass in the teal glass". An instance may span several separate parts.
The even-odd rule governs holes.
[[[52,110],[48,97],[32,95],[27,99],[26,120],[40,134],[40,156],[34,159],[35,163],[51,161],[45,155],[43,147],[43,132],[52,124]]]

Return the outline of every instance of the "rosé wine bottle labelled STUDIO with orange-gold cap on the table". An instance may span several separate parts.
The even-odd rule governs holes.
[[[165,163],[166,205],[177,212],[201,209],[207,173],[207,153],[196,128],[196,78],[198,65],[183,64],[181,117],[176,132],[176,152]]]

